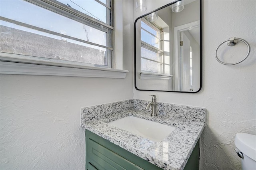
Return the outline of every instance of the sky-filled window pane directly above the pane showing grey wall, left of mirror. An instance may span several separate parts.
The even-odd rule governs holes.
[[[23,0],[4,1],[1,16],[15,21],[106,46],[106,32],[97,30]],[[15,12],[10,9],[16,9]],[[5,24],[6,25],[6,24]],[[107,30],[106,30],[107,31]]]

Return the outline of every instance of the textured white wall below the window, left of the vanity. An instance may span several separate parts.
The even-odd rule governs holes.
[[[132,3],[124,8],[131,10]],[[133,98],[133,25],[126,20],[126,79],[0,75],[1,170],[85,169],[81,107]]]

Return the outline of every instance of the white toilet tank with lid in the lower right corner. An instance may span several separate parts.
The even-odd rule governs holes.
[[[238,156],[242,158],[242,170],[256,170],[256,135],[237,133],[235,145]]]

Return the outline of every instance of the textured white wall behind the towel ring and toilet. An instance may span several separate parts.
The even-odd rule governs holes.
[[[203,89],[196,94],[134,89],[134,98],[150,100],[149,94],[155,94],[161,102],[206,108],[200,169],[239,170],[234,136],[237,132],[256,134],[256,1],[203,0],[203,3]],[[238,65],[222,65],[215,59],[215,49],[232,36],[247,40],[252,51]],[[234,51],[234,57],[245,55],[243,50]]]

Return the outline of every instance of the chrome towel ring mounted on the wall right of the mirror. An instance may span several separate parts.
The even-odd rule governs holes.
[[[246,56],[241,61],[238,61],[236,63],[225,63],[223,61],[220,61],[220,59],[217,56],[217,51],[218,51],[218,48],[220,47],[220,45],[222,45],[223,43],[226,42],[228,46],[234,46],[234,45],[236,45],[236,43],[238,43],[238,40],[244,42],[247,45],[248,52],[247,52]],[[251,51],[251,47],[250,47],[249,43],[246,42],[245,40],[241,39],[241,38],[231,37],[228,40],[225,40],[224,42],[222,42],[220,45],[216,48],[215,58],[216,58],[217,61],[219,61],[220,63],[225,64],[225,65],[235,65],[235,64],[241,63],[242,61],[244,61],[248,57],[248,55],[250,54],[250,51]]]

